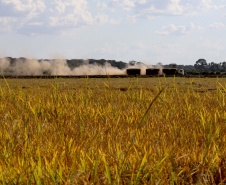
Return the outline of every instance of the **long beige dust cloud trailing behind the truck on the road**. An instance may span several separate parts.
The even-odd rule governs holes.
[[[71,69],[65,59],[22,60],[19,58],[11,64],[9,58],[1,58],[0,72],[11,75],[125,75],[126,69],[118,69],[107,62],[103,66],[89,64],[87,60],[84,60],[81,66]]]

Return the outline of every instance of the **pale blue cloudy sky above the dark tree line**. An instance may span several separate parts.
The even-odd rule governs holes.
[[[0,56],[226,61],[225,0],[0,0]]]

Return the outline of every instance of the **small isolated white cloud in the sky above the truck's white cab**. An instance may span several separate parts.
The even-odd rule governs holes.
[[[195,29],[195,25],[190,23],[189,26],[176,26],[174,24],[170,24],[169,26],[163,26],[162,30],[155,32],[160,35],[185,35],[190,33]]]

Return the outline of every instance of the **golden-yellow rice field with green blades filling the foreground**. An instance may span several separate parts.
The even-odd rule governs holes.
[[[0,80],[0,184],[225,183],[225,79]]]

